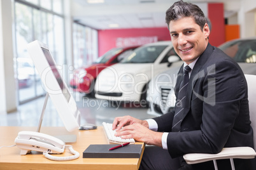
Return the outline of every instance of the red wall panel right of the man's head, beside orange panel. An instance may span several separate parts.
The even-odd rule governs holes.
[[[212,46],[225,42],[225,19],[223,3],[208,3],[208,18],[211,21],[209,41]]]

